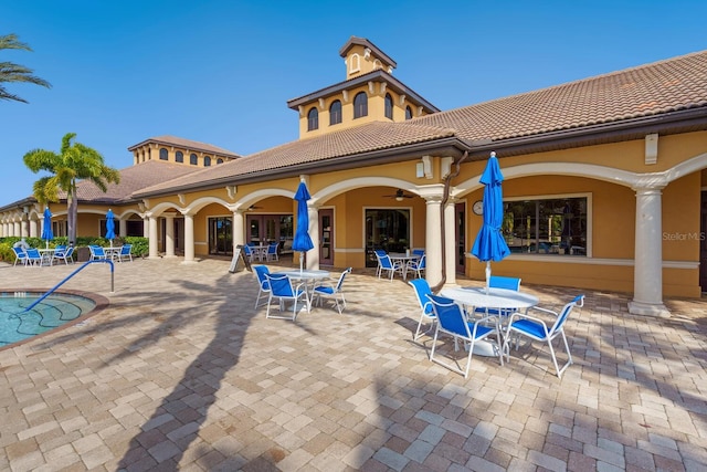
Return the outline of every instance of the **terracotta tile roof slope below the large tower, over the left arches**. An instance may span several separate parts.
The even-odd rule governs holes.
[[[340,132],[284,144],[240,159],[202,169],[198,172],[165,181],[136,192],[159,192],[170,188],[208,185],[212,180],[228,180],[250,174],[267,172],[295,165],[326,161],[361,153],[412,145],[442,137],[451,137],[451,129],[422,124],[373,122]]]

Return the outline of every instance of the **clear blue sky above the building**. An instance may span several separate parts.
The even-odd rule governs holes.
[[[0,51],[52,88],[6,84],[0,207],[40,176],[22,156],[66,133],[122,169],[127,148],[173,135],[247,155],[297,138],[286,102],[345,78],[351,35],[441,109],[544,88],[707,48],[704,0],[235,1],[3,0]]]

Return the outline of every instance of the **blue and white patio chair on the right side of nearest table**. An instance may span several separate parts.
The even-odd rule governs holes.
[[[508,361],[510,358],[511,337],[515,337],[516,350],[518,350],[518,340],[520,336],[529,337],[531,339],[531,344],[532,340],[547,343],[550,347],[550,356],[552,357],[552,364],[555,364],[557,376],[558,378],[561,378],[562,373],[572,364],[572,354],[570,353],[570,346],[567,343],[567,336],[564,335],[564,323],[572,312],[572,308],[574,308],[576,306],[584,306],[584,295],[577,295],[570,303],[564,305],[564,307],[559,313],[551,310],[541,308],[539,306],[534,306],[528,308],[525,314],[514,313],[513,315],[510,315],[508,327],[506,328],[506,340],[504,343],[504,353],[506,355],[506,360]],[[527,313],[530,310],[537,310],[541,313],[545,313],[546,315],[555,317],[555,323],[552,323],[551,327],[548,327],[545,321],[528,315]],[[562,342],[564,343],[564,350],[567,352],[568,357],[567,363],[562,366],[562,368],[559,367],[555,349],[552,348],[552,340],[560,336],[562,337]]]

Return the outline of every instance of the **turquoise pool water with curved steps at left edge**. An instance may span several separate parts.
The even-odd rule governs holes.
[[[0,347],[73,322],[96,306],[93,300],[85,296],[54,293],[25,312],[42,295],[28,292],[0,293]]]

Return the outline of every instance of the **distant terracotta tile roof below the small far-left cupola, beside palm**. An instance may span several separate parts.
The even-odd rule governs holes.
[[[193,174],[198,170],[201,170],[201,168],[160,160],[148,160],[122,169],[120,183],[108,183],[108,190],[105,193],[94,182],[82,180],[76,186],[76,196],[80,201],[118,203],[123,200],[129,200],[130,195],[137,190],[186,174]],[[60,198],[65,199],[66,193],[60,192]]]

